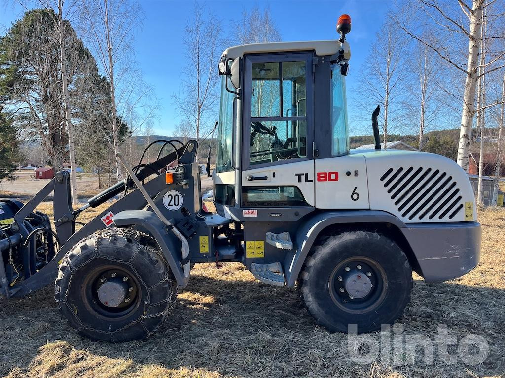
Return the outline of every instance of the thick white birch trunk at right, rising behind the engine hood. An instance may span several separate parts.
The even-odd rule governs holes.
[[[472,142],[472,123],[475,114],[475,87],[478,77],[479,45],[482,42],[483,0],[473,0],[470,16],[470,38],[468,43],[467,76],[463,92],[458,165],[468,172],[470,145]]]

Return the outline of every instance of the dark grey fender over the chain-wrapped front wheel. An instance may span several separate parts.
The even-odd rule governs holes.
[[[181,289],[187,286],[189,276],[184,276],[184,270],[180,264],[182,259],[181,242],[172,232],[167,232],[167,226],[154,212],[147,210],[121,211],[114,215],[114,223],[118,227],[134,226],[134,228],[152,235],[174,274],[177,286]]]

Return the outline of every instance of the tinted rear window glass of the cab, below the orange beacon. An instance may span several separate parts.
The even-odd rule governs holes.
[[[333,156],[349,152],[349,127],[347,125],[347,101],[345,99],[345,77],[340,67],[331,70],[331,153]]]

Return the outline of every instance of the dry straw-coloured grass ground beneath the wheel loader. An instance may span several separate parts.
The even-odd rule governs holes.
[[[46,205],[44,205],[46,206]],[[0,376],[21,377],[442,377],[505,374],[505,211],[480,211],[482,259],[450,282],[416,280],[400,324],[431,340],[438,325],[481,335],[480,365],[384,359],[357,364],[347,338],[314,326],[295,290],[258,282],[239,264],[196,265],[161,332],[147,341],[91,342],[62,320],[47,288],[0,308]],[[378,337],[378,333],[372,335]],[[450,349],[451,354],[455,354]]]

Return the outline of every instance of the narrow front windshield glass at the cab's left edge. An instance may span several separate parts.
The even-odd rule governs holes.
[[[231,144],[233,136],[233,98],[234,93],[226,90],[226,75],[221,81],[221,106],[219,110],[218,149],[216,172],[228,172],[231,167]]]

